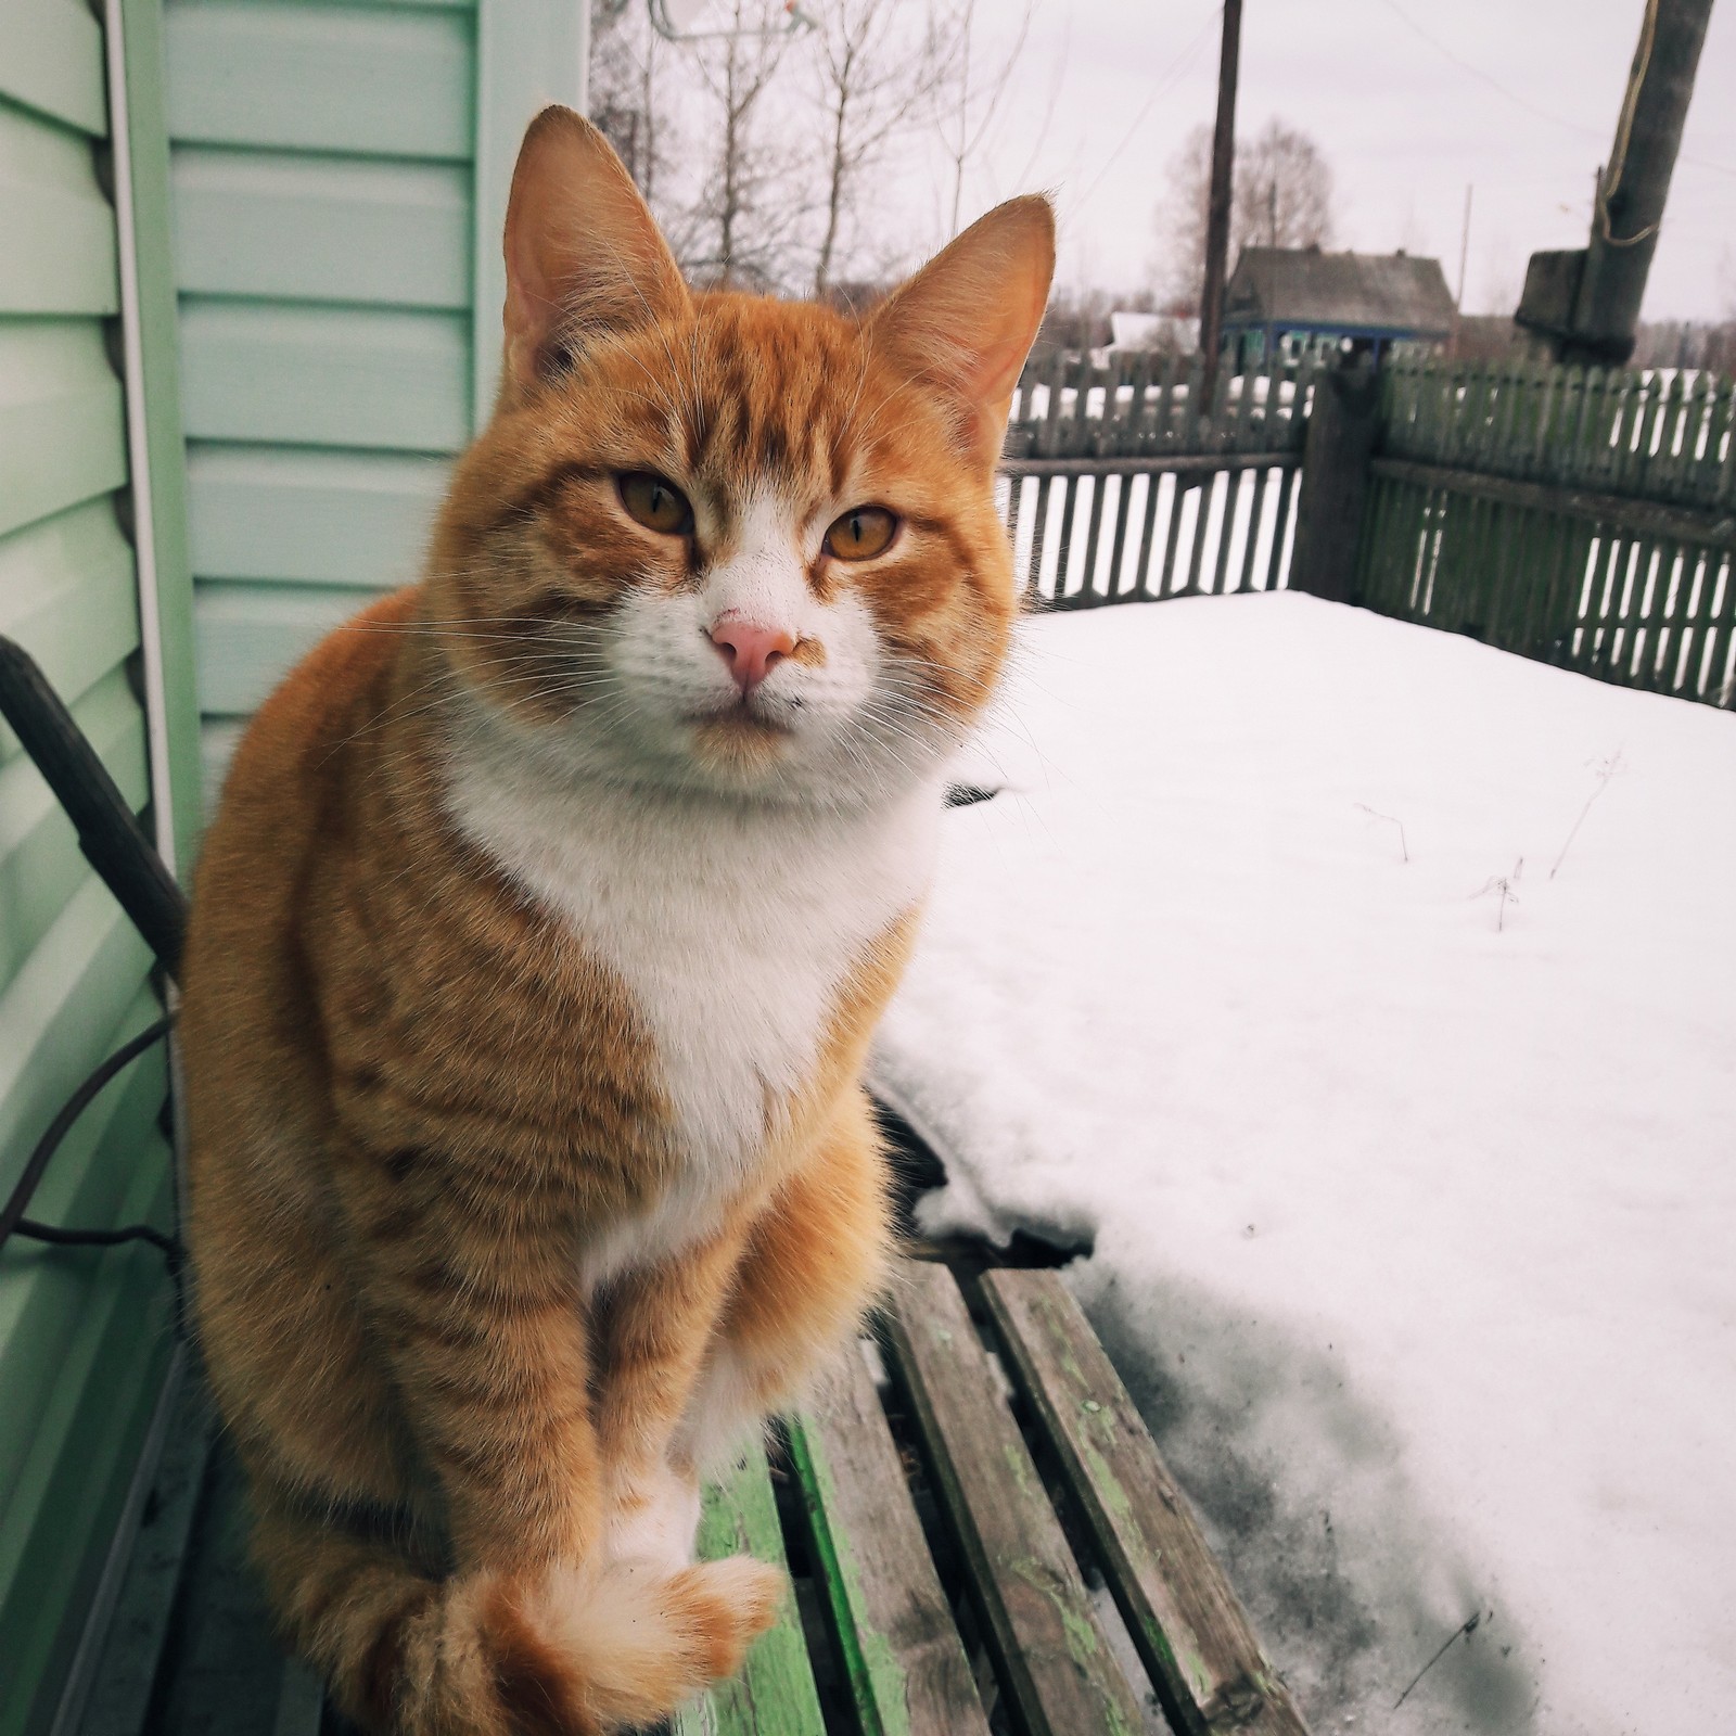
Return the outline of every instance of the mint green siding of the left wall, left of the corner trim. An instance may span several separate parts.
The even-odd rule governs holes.
[[[80,0],[0,7],[0,632],[73,707],[128,802],[151,799],[102,31]],[[149,958],[0,729],[0,1191],[73,1087],[160,1012]],[[49,1222],[170,1222],[151,1055],[61,1147]],[[170,1290],[148,1248],[0,1250],[0,1736],[54,1713],[161,1378]]]

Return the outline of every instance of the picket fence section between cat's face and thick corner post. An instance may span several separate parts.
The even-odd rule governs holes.
[[[1057,354],[1028,368],[1002,509],[1033,602],[1052,609],[1285,583],[1312,363]]]

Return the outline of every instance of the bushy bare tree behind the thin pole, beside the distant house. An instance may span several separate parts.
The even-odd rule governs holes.
[[[1170,161],[1158,207],[1160,276],[1165,306],[1200,309],[1205,279],[1205,222],[1212,196],[1212,128],[1194,127]],[[1332,241],[1332,168],[1319,146],[1295,127],[1271,120],[1236,146],[1231,260],[1245,247],[1326,247]]]

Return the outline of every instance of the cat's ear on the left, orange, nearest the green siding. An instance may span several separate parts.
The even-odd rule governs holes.
[[[524,134],[503,247],[509,398],[559,372],[587,337],[689,306],[681,267],[621,160],[568,108],[545,108]]]

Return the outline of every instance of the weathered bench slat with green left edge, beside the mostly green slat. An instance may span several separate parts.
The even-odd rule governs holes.
[[[863,1736],[988,1736],[861,1356],[849,1356],[823,1399],[790,1424],[790,1462]]]

